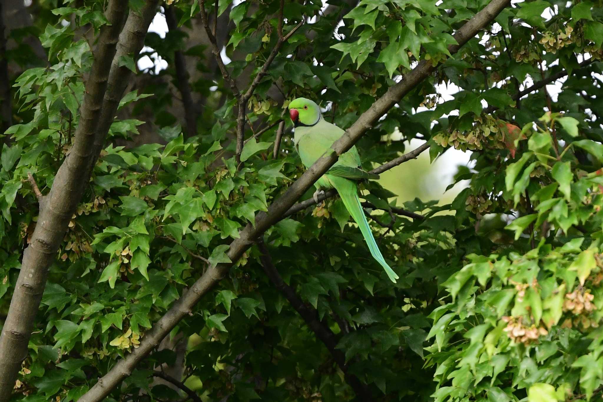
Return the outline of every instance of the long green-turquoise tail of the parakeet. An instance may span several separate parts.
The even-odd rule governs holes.
[[[341,201],[343,201],[347,210],[352,215],[354,221],[360,227],[360,231],[362,232],[362,236],[364,236],[364,240],[367,242],[368,250],[371,251],[371,254],[378,263],[385,269],[385,273],[393,283],[396,283],[396,279],[399,276],[393,269],[387,265],[384,257],[377,247],[377,243],[375,242],[375,238],[373,237],[373,233],[371,232],[371,228],[368,225],[367,218],[364,216],[364,212],[362,212],[362,206],[360,205],[360,199],[358,198],[358,188],[356,187],[356,183],[351,180],[342,177],[334,177],[329,175],[329,180],[333,183],[333,186],[341,196]]]

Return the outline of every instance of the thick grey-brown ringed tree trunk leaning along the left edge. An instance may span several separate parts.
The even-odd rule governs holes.
[[[27,356],[27,345],[34,320],[46,285],[48,268],[55,258],[58,246],[88,182],[90,161],[95,158],[95,136],[103,134],[98,127],[108,128],[115,111],[104,108],[107,93],[118,94],[121,81],[127,81],[125,68],[116,66],[116,54],[137,54],[142,40],[156,13],[157,1],[147,1],[141,15],[130,13],[122,34],[121,19],[127,2],[111,0],[106,17],[111,25],[101,29],[99,46],[94,54],[92,71],[86,83],[86,93],[80,108],[80,124],[75,131],[74,145],[65,162],[58,169],[48,195],[40,201],[40,212],[31,243],[25,249],[21,272],[17,280],[8,316],[0,336],[0,401],[8,401],[21,362]],[[118,39],[119,38],[119,39]],[[125,71],[124,71],[125,69]],[[126,80],[120,74],[126,75]],[[106,134],[104,132],[103,136]]]

